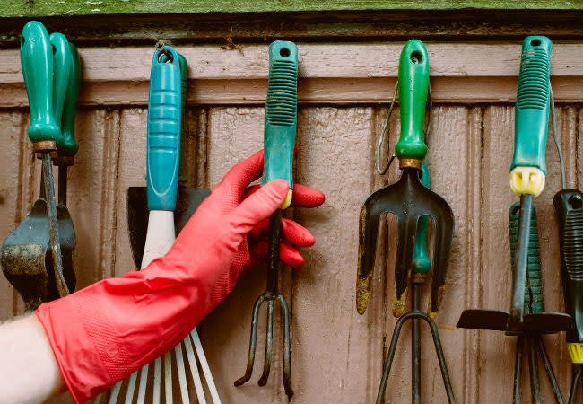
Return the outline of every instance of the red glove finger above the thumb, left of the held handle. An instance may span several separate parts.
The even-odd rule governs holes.
[[[225,174],[213,191],[223,191],[232,196],[233,199],[240,200],[248,185],[257,180],[263,171],[264,153],[263,150],[250,155],[248,158],[235,164],[231,170]]]

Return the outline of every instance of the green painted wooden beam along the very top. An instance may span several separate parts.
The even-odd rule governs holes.
[[[156,13],[300,13],[431,10],[580,10],[583,0],[0,0],[2,17]]]

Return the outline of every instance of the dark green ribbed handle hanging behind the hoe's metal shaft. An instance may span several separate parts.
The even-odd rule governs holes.
[[[515,202],[509,210],[509,234],[512,271],[516,270],[514,258],[518,243],[518,218],[520,202]],[[541,249],[538,242],[538,225],[533,207],[530,215],[530,237],[528,242],[528,260],[526,265],[526,289],[524,307],[526,313],[544,312],[543,276],[541,272]]]

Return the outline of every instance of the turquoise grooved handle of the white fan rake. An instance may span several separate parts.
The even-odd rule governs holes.
[[[165,57],[163,57],[165,56]],[[148,209],[174,210],[178,189],[182,97],[178,52],[156,49],[150,73],[146,193]]]

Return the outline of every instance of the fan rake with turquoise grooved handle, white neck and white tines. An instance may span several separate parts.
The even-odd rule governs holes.
[[[186,80],[186,76],[181,74],[181,62],[183,66],[186,63],[184,59],[180,61],[178,52],[167,45],[157,46],[152,60],[146,176],[147,206],[150,209],[150,214],[147,222],[148,228],[141,268],[145,268],[152,259],[165,254],[176,237],[173,211],[176,207],[178,193],[180,131],[182,127],[180,116],[184,114],[185,106],[182,102],[182,99],[185,98],[182,92],[186,90],[186,85],[181,85],[181,77]],[[186,66],[184,72],[186,72]],[[195,347],[194,350],[193,345]],[[184,361],[183,347],[189,366]],[[148,396],[154,402],[161,400],[162,361],[164,400],[167,404],[173,402],[172,356],[174,356],[174,365],[178,372],[179,399],[183,403],[190,402],[187,382],[187,369],[189,367],[198,402],[205,403],[204,388],[198,373],[195,351],[213,402],[220,403],[221,400],[214,386],[213,377],[196,329],[193,329],[187,338],[174,347],[173,351],[154,361],[153,380],[150,383],[152,384],[151,390],[148,389],[150,365],[144,365],[139,372],[140,382],[137,391],[137,402],[144,403],[148,391],[151,392]],[[137,375],[138,372],[133,373],[127,381],[125,402],[128,404],[134,400]],[[109,403],[117,402],[121,386],[122,382],[119,382],[112,389]]]

